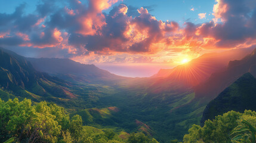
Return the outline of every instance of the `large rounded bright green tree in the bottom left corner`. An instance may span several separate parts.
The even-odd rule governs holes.
[[[21,102],[17,98],[7,102],[0,100],[0,141],[14,136],[24,142],[57,142],[61,133],[58,121],[61,120],[58,120],[60,114],[52,114],[55,109],[45,101],[32,106],[26,98]],[[61,119],[64,116],[66,114]]]

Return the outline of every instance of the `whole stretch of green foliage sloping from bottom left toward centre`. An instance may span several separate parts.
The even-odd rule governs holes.
[[[21,102],[17,98],[7,102],[0,99],[0,142],[121,143],[127,142],[126,135],[82,126],[81,116],[75,115],[70,120],[64,108],[52,103],[42,101],[32,105],[27,99]],[[129,139],[157,142],[143,133],[132,134]]]

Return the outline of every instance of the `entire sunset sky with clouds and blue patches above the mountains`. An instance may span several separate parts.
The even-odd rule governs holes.
[[[255,0],[0,0],[0,46],[147,77],[256,42]]]

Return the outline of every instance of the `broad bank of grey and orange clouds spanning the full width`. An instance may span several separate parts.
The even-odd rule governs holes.
[[[12,14],[0,13],[0,46],[59,51],[61,54],[53,55],[87,57],[86,61],[96,58],[98,62],[121,61],[120,54],[140,54],[124,61],[149,62],[149,55],[159,52],[241,48],[256,43],[254,0],[217,0],[212,10],[214,19],[201,24],[186,21],[182,26],[156,19],[150,14],[156,5],[113,6],[116,2],[67,0],[65,5],[56,6],[56,1],[41,0],[32,14],[24,13],[26,4],[21,4]],[[109,8],[109,13],[103,13]],[[199,18],[206,18],[206,13]]]

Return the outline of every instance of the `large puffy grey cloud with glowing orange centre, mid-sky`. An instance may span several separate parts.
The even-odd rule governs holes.
[[[72,33],[69,43],[104,54],[104,51],[151,52],[154,43],[164,41],[166,32],[178,29],[177,23],[158,21],[145,8],[140,8],[140,15],[134,18],[129,17],[127,12],[128,7],[124,4],[113,7],[109,15],[104,15],[106,25],[98,33]]]

